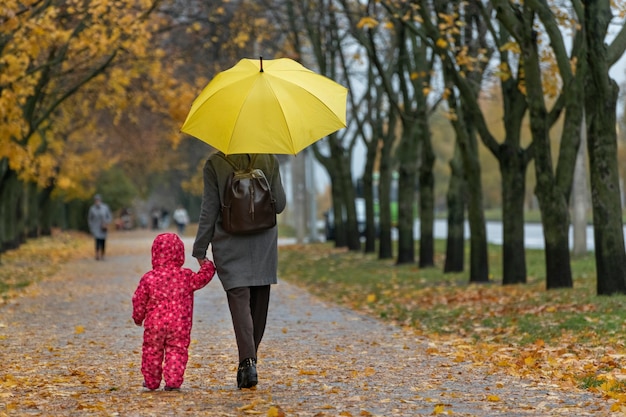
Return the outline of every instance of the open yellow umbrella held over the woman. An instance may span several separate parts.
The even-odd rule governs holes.
[[[225,154],[295,155],[346,127],[347,94],[291,59],[242,59],[202,90],[181,131]]]

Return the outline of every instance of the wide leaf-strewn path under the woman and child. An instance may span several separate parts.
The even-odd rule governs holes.
[[[114,233],[105,261],[70,262],[0,308],[0,416],[611,414],[589,392],[489,373],[284,281],[273,288],[256,389],[236,388],[234,335],[215,278],[196,293],[182,391],[146,392],[130,299],[154,236]],[[192,239],[185,244],[190,253]]]

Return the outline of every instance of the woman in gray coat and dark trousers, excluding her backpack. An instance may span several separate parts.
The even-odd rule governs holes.
[[[237,166],[246,167],[252,156],[240,154],[228,158]],[[258,154],[254,167],[264,172],[275,199],[276,213],[281,213],[286,196],[278,159],[274,155]],[[237,341],[237,387],[251,388],[258,383],[257,351],[265,332],[270,288],[278,282],[278,227],[250,235],[233,235],[222,228],[222,198],[232,172],[233,167],[223,154],[210,155],[204,165],[202,207],[192,255],[200,265],[204,264],[211,245]]]

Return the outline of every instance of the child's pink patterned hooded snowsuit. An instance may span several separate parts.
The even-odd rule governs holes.
[[[152,244],[152,270],[141,277],[133,294],[133,320],[144,325],[141,373],[151,390],[159,388],[161,376],[168,388],[183,383],[194,292],[215,275],[213,262],[205,262],[197,273],[183,268],[184,262],[185,246],[178,235],[158,235]]]

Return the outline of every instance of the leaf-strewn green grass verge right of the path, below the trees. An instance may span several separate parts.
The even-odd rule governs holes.
[[[437,242],[436,253],[445,253],[444,242]],[[458,360],[548,376],[624,407],[626,295],[595,295],[593,254],[572,259],[574,288],[550,291],[543,251],[527,251],[528,282],[511,286],[501,284],[501,247],[490,246],[489,256],[491,282],[469,284],[466,272],[442,272],[443,256],[434,268],[420,269],[331,243],[291,245],[280,248],[279,276],[322,299],[404,326],[434,346],[454,346]]]

